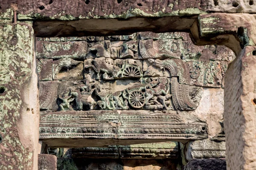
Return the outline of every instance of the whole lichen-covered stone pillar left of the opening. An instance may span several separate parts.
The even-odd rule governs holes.
[[[37,170],[38,77],[32,24],[0,27],[0,170]]]

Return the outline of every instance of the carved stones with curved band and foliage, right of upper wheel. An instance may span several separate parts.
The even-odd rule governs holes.
[[[143,77],[179,77],[181,84],[203,87],[221,87],[228,65],[224,61],[181,59],[148,59],[143,63]]]

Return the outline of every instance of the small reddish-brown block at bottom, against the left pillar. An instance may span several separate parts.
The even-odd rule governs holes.
[[[49,154],[38,154],[38,170],[57,170],[57,157]]]

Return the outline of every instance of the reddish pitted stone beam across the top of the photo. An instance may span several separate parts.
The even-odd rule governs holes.
[[[198,15],[207,12],[256,13],[256,4],[250,0],[12,0],[12,3],[18,5],[20,20],[127,19]],[[10,1],[1,0],[0,6],[1,13],[11,13]]]

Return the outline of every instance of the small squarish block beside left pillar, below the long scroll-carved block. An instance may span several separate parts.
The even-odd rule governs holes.
[[[52,59],[37,59],[36,66],[39,80],[52,81]]]

